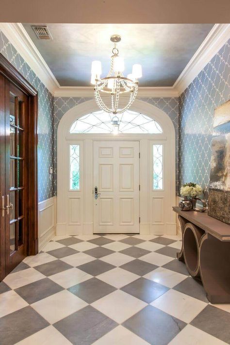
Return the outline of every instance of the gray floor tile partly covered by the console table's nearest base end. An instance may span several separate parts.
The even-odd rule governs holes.
[[[181,281],[178,285],[174,286],[173,289],[209,303],[201,281],[190,276]]]

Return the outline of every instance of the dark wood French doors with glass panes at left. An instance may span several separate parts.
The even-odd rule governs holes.
[[[1,278],[27,256],[28,96],[0,76]]]

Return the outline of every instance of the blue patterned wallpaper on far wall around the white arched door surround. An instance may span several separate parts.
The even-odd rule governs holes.
[[[88,101],[91,98],[69,98],[69,97],[54,97],[54,189],[57,193],[57,128],[59,121],[67,110],[74,106]],[[178,98],[140,98],[142,101],[148,102],[163,110],[169,118],[173,121],[176,131],[176,189],[178,190]]]

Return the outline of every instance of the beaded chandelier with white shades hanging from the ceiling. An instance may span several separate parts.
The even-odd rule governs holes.
[[[94,84],[94,94],[96,102],[100,109],[107,113],[119,114],[127,110],[134,101],[138,90],[138,78],[142,77],[141,65],[135,64],[132,66],[132,73],[124,77],[123,71],[124,59],[119,56],[116,43],[120,42],[119,35],[113,35],[110,40],[114,42],[114,48],[111,56],[111,66],[106,77],[101,78],[101,62],[92,62],[92,77],[91,84]],[[109,94],[110,97],[104,97],[102,100],[102,92]],[[119,100],[121,94],[128,94],[127,104],[121,109]],[[105,102],[106,101],[106,102]]]

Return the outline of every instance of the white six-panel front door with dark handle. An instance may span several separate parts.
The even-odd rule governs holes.
[[[94,141],[94,233],[139,233],[139,152],[139,141]]]

